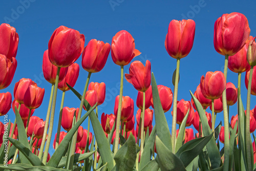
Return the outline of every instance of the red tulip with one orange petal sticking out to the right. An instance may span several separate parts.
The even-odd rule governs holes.
[[[121,30],[112,38],[111,56],[116,65],[126,66],[140,54],[135,49],[134,38],[129,32]]]

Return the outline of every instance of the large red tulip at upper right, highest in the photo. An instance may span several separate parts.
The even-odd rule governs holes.
[[[248,20],[243,14],[223,14],[214,25],[215,50],[221,55],[232,56],[244,47],[249,35]]]

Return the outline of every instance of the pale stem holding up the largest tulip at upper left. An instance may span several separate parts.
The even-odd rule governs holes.
[[[56,106],[56,99],[57,99],[57,91],[58,91],[58,82],[59,82],[59,71],[60,67],[57,69],[57,75],[56,75],[56,81],[54,86],[54,93],[53,93],[53,100],[52,100],[52,111],[51,111],[51,117],[50,117],[50,124],[49,124],[49,131],[48,131],[48,139],[46,142],[46,148],[44,157],[42,157],[42,163],[46,164],[47,161],[47,155],[50,148],[50,142],[52,137],[52,130],[53,130],[53,120],[54,120],[54,113],[55,113],[55,106]]]

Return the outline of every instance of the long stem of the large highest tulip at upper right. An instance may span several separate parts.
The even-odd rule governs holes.
[[[228,65],[228,55],[225,55],[225,65],[224,65],[224,76],[227,80],[227,65]],[[229,164],[229,122],[228,122],[228,112],[227,112],[227,98],[226,89],[222,93],[222,103],[223,103],[223,114],[224,114],[224,166],[223,170],[228,170]]]

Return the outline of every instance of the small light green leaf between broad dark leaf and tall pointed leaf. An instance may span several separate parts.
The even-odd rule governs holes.
[[[149,132],[149,131],[148,131]],[[153,150],[155,151],[155,139],[156,139],[156,126],[153,127],[153,130],[148,137],[145,147],[142,154],[140,155],[139,170],[141,170],[148,162],[151,161],[151,155]]]

